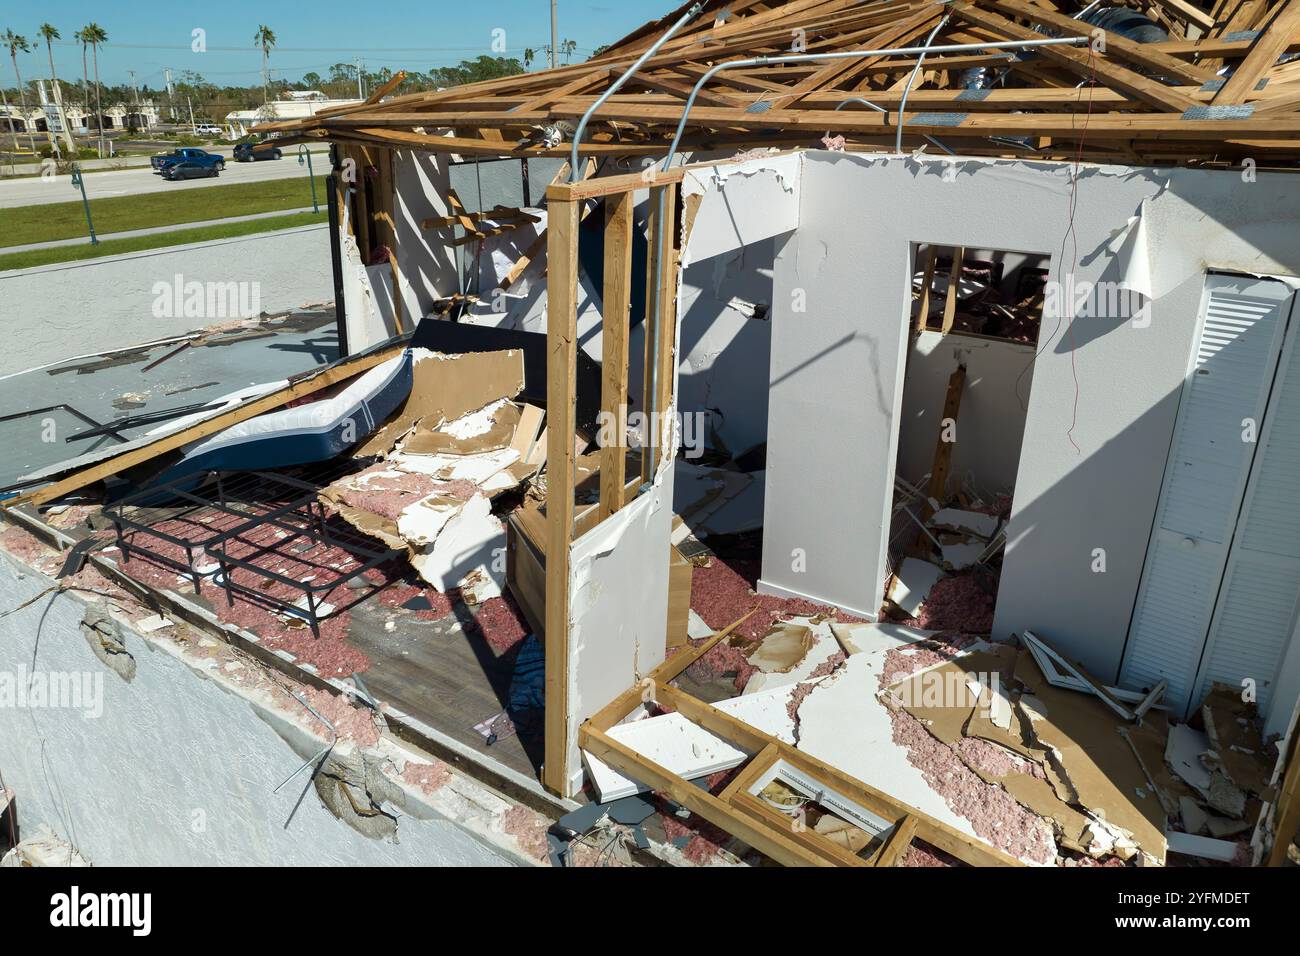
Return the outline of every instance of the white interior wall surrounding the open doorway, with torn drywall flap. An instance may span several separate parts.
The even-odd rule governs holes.
[[[1150,324],[1102,316],[1066,328],[1046,316],[994,633],[1034,627],[1097,676],[1115,678],[1204,273],[1296,274],[1295,177],[1084,166],[1075,178],[1069,165],[1043,163],[805,153],[801,226],[776,268],[763,554],[771,589],[879,605],[909,245],[1058,258],[1072,187],[1067,272],[1076,282],[1145,273]],[[1119,234],[1139,213],[1145,243],[1130,256]],[[807,295],[805,313],[786,304],[794,289]],[[807,551],[802,575],[788,570],[793,548]],[[1095,549],[1105,550],[1105,572],[1092,570]]]

